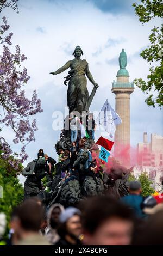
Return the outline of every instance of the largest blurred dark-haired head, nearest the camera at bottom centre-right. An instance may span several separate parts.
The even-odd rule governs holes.
[[[79,208],[85,245],[130,245],[134,227],[132,212],[113,198],[87,198]]]

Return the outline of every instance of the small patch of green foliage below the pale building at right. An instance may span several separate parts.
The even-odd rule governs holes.
[[[141,173],[138,181],[141,182],[141,187],[142,187],[141,194],[143,197],[154,194],[154,189],[151,187],[152,182],[148,180],[147,173]]]

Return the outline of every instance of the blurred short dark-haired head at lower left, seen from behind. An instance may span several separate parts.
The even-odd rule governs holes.
[[[44,216],[44,210],[33,199],[28,199],[15,209],[14,230],[20,239],[28,234],[38,233]]]

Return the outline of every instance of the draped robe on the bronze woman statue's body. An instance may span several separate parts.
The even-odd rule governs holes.
[[[72,111],[87,111],[87,102],[89,100],[89,92],[86,87],[86,68],[88,63],[85,59],[77,61],[72,60],[71,70],[68,72],[66,81],[69,80],[67,90],[67,105],[70,113]]]

